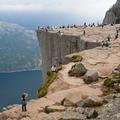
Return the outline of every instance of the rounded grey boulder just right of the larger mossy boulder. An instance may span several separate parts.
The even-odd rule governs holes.
[[[99,78],[98,72],[88,70],[87,73],[84,75],[83,80],[86,84],[90,84],[92,82],[96,82],[98,78]]]

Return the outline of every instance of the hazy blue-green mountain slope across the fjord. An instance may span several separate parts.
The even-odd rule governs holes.
[[[0,22],[0,72],[40,68],[39,58],[34,31]]]

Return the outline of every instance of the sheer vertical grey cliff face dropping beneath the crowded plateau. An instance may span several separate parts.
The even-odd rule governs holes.
[[[82,40],[80,35],[60,36],[55,31],[37,30],[37,36],[42,54],[43,80],[52,65],[67,63],[66,55],[97,46],[94,42]]]

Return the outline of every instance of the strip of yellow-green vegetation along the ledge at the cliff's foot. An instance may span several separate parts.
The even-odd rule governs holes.
[[[38,89],[38,97],[44,97],[48,93],[49,86],[54,82],[54,80],[57,78],[57,72],[62,69],[62,65],[58,65],[56,67],[56,72],[52,72],[49,70],[47,72],[47,80],[46,82]]]

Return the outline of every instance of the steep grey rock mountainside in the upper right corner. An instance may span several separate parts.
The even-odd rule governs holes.
[[[105,15],[103,20],[103,24],[119,24],[120,23],[120,0],[110,8]]]

